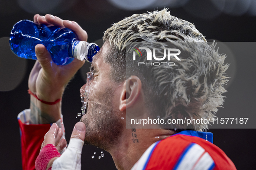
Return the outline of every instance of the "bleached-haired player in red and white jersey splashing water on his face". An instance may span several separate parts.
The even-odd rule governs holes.
[[[79,40],[87,41],[86,32],[76,22],[51,15],[36,15],[34,20],[71,28]],[[142,114],[162,110],[160,115],[172,119],[180,113],[188,118],[207,119],[223,104],[225,57],[206,43],[202,45],[206,40],[193,24],[163,9],[125,18],[107,29],[103,38],[105,43],[93,59],[87,83],[80,89],[87,104],[86,114],[75,125],[71,135],[75,140],[71,139],[61,156],[66,142],[61,139],[65,130],[58,99],[83,62],[74,60],[67,66],[57,66],[42,44],[36,46],[38,62],[29,78],[29,90],[33,93],[30,110],[19,114],[24,170],[34,168],[40,148],[37,169],[79,169],[83,141],[108,151],[118,170],[236,169],[212,143],[212,134],[201,132],[207,127],[203,123],[189,129],[178,125],[173,129],[126,129],[128,109]],[[142,41],[202,44],[196,49],[184,47],[193,56],[181,57],[175,66],[165,66],[160,71],[148,66],[142,72],[131,66],[128,71],[126,44]],[[143,79],[145,72],[150,72],[154,83]],[[159,102],[161,108],[157,107]],[[49,130],[50,123],[54,124]]]

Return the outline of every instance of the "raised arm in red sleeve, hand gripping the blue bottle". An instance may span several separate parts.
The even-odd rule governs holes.
[[[87,41],[86,31],[74,21],[62,20],[49,14],[45,16],[36,14],[34,22],[70,28],[75,31],[78,40]],[[50,123],[57,123],[65,136],[65,129],[60,119],[61,101],[52,105],[41,101],[55,102],[61,99],[68,82],[84,64],[84,61],[74,59],[66,66],[56,65],[42,44],[36,45],[36,57],[38,61],[29,75],[29,90],[34,94],[30,97],[30,110],[24,110],[18,115],[23,170],[35,169],[36,157],[39,154],[44,135],[51,126]]]

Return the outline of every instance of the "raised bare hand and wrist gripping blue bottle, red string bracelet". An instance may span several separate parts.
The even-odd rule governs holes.
[[[39,16],[39,14],[36,14],[34,16],[34,22],[37,24],[70,28],[75,31],[78,40],[87,41],[86,31],[84,31],[78,23],[74,21],[62,20],[49,14],[45,16]],[[75,75],[78,69],[83,66],[84,61],[75,59],[66,66],[56,65],[53,63],[51,55],[44,45],[38,44],[35,49],[38,61],[36,61],[29,75],[29,90],[43,101],[54,102],[59,98],[62,98],[65,86]],[[43,106],[41,106],[41,103],[38,101],[33,101],[33,97],[31,97],[31,101],[33,102],[33,106],[30,105],[32,112],[39,112],[35,113],[39,114],[39,116],[41,116],[41,113],[44,114],[42,115],[43,118],[39,123],[53,123],[60,118],[60,110],[57,111],[60,104],[57,104],[58,106],[47,106],[46,104],[42,104]],[[53,109],[52,107],[55,108]]]

